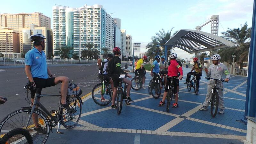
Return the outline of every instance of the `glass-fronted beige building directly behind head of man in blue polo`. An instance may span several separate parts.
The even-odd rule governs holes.
[[[45,27],[37,27],[36,25],[31,25],[30,28],[20,28],[20,53],[27,53],[33,48],[33,43],[30,40],[30,36],[34,34],[42,34],[45,36],[45,55],[47,58],[51,58],[53,53],[52,45],[52,29]]]

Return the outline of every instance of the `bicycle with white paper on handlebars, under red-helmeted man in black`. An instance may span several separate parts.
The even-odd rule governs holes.
[[[123,90],[123,86],[122,86],[122,81],[125,78],[125,75],[120,75],[119,76],[119,86],[117,88],[117,97],[116,97],[116,103],[117,103],[117,114],[121,114],[122,111],[122,106],[123,106],[123,100],[126,98],[127,95],[127,85],[124,83],[124,90]],[[127,105],[129,105],[129,101],[125,100],[125,103]]]

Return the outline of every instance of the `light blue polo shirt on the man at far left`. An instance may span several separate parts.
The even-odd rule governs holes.
[[[25,65],[31,66],[32,77],[48,78],[46,56],[44,51],[39,52],[35,47],[25,55]]]

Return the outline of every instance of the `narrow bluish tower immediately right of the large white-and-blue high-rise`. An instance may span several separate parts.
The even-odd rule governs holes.
[[[121,20],[118,18],[113,18],[115,22],[115,28],[114,28],[114,47],[121,48]]]

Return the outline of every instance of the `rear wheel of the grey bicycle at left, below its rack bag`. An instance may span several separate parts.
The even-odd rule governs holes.
[[[61,118],[64,118],[61,123],[66,129],[72,129],[79,122],[81,114],[82,114],[82,101],[75,97],[67,97],[66,98],[69,107],[75,110],[75,112],[68,112],[65,109],[61,109]],[[71,116],[68,116],[71,115]]]

